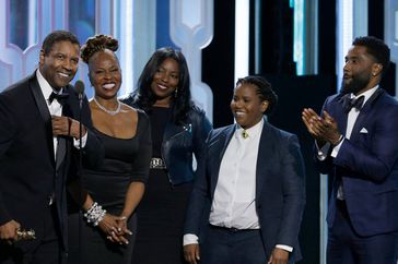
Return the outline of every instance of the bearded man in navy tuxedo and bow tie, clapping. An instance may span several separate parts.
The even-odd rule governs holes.
[[[378,86],[389,48],[359,37],[346,56],[341,92],[321,116],[304,109],[315,161],[332,177],[327,263],[396,264],[398,104]]]

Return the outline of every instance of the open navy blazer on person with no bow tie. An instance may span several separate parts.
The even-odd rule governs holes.
[[[213,200],[221,160],[234,132],[235,125],[232,124],[209,134],[206,157],[199,164],[187,209],[185,233],[199,236],[203,227],[201,219],[209,223],[210,206],[207,204]],[[292,259],[298,261],[297,237],[305,205],[305,185],[296,135],[265,121],[256,175],[256,208],[267,257],[276,244],[286,244],[294,248]]]

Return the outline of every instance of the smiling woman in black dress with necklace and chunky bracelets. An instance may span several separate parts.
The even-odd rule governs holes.
[[[131,263],[133,213],[144,192],[152,145],[148,116],[117,99],[121,84],[119,61],[114,53],[117,48],[116,39],[97,35],[89,38],[81,51],[95,89],[90,108],[105,158],[99,168],[89,168],[83,163],[82,181],[89,194],[80,228],[77,215],[70,218],[70,263],[75,263],[79,255],[80,263]],[[79,229],[80,243],[75,242]]]

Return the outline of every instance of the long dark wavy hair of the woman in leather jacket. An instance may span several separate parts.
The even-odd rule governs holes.
[[[165,47],[157,49],[147,62],[138,80],[137,89],[132,95],[134,104],[144,111],[151,111],[153,104],[156,101],[155,94],[151,89],[153,76],[166,59],[174,59],[179,69],[178,92],[173,97],[174,123],[180,123],[186,120],[188,111],[192,108],[190,95],[190,77],[188,64],[184,55],[174,48]]]

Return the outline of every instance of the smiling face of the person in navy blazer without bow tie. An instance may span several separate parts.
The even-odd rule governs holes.
[[[261,101],[255,85],[244,83],[234,89],[231,110],[242,128],[249,129],[257,124],[267,108],[268,101]]]

